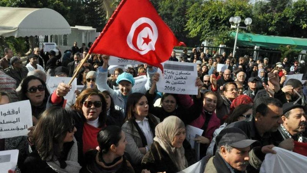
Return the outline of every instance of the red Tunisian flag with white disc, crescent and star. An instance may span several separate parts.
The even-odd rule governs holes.
[[[133,59],[157,66],[179,42],[149,0],[122,0],[95,40],[90,53]]]

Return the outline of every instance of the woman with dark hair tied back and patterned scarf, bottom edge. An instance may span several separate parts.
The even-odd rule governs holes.
[[[127,145],[126,135],[118,126],[108,126],[97,135],[100,151],[86,153],[87,164],[80,173],[134,173],[124,151]]]

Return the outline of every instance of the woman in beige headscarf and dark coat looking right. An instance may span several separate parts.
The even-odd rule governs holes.
[[[156,136],[150,151],[142,160],[142,167],[150,172],[176,173],[187,168],[187,152],[183,147],[185,124],[176,116],[169,116],[155,129]]]

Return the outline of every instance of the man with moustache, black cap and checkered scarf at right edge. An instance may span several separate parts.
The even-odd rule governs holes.
[[[307,143],[307,137],[303,135],[307,121],[304,107],[293,102],[282,105],[282,121],[283,123],[278,128],[283,139],[293,139],[298,142]]]

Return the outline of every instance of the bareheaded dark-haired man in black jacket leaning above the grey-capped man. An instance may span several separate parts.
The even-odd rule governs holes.
[[[229,127],[238,127],[247,135],[249,139],[258,140],[260,145],[252,145],[253,153],[260,160],[264,160],[265,152],[262,148],[267,145],[278,146],[287,150],[293,150],[293,140],[275,140],[272,132],[278,131],[282,123],[282,103],[272,97],[261,97],[254,102],[253,118],[251,121],[237,121],[229,124]],[[260,169],[261,163],[253,164],[249,169],[256,171]]]

